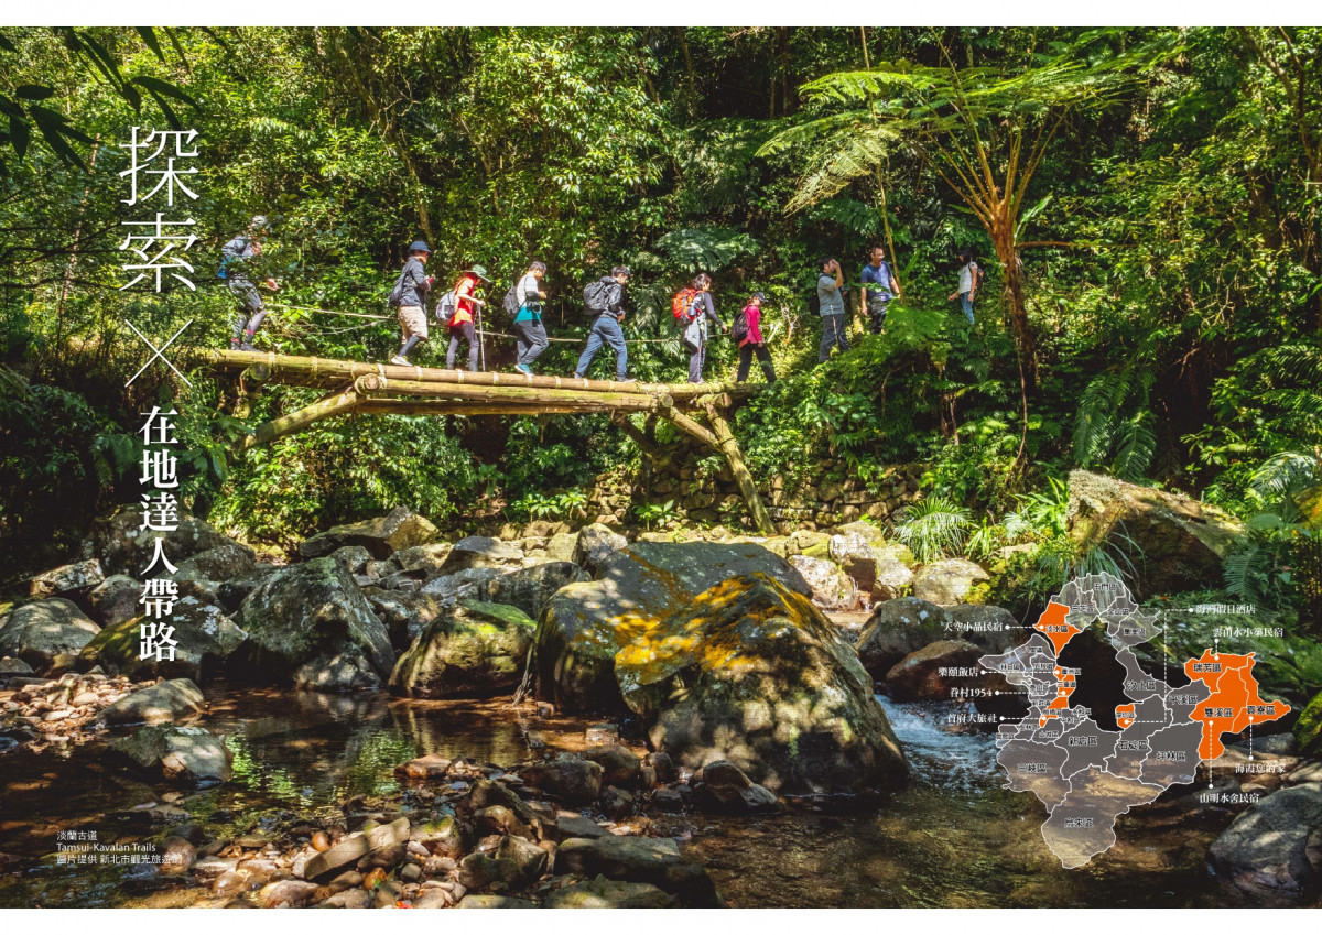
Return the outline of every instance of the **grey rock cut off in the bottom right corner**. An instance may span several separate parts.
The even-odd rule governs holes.
[[[1322,783],[1272,792],[1212,844],[1223,893],[1245,906],[1313,906],[1322,894]]]

